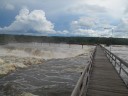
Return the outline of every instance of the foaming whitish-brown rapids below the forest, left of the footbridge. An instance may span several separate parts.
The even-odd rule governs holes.
[[[48,44],[48,43],[10,43],[0,46],[0,74],[41,64],[45,60],[75,57],[89,53],[92,46]]]

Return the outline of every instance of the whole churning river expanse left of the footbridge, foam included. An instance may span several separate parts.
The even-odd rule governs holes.
[[[11,43],[0,46],[0,96],[70,96],[94,46]]]

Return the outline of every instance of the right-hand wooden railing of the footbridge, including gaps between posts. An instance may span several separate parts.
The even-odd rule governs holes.
[[[117,70],[117,73],[124,81],[125,85],[128,87],[128,63],[123,61],[121,58],[101,46],[106,53],[109,61],[113,64],[114,68]]]

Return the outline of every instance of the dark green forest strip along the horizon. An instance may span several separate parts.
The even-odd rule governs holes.
[[[106,45],[128,45],[127,38],[105,38],[105,37],[58,37],[58,36],[28,36],[28,35],[0,35],[0,43],[10,42],[39,42],[39,43],[67,43],[67,44],[106,44]]]

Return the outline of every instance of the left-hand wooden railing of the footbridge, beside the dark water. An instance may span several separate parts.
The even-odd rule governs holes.
[[[96,52],[96,48],[91,53],[90,63],[87,66],[85,66],[84,71],[82,72],[82,75],[80,76],[79,80],[77,81],[77,84],[76,84],[74,90],[72,91],[71,96],[82,96],[83,91],[87,90],[90,72],[93,67],[95,52]]]

